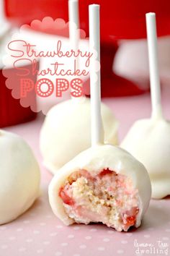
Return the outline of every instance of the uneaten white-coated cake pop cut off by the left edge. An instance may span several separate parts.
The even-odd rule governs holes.
[[[40,168],[18,135],[0,130],[0,224],[24,213],[39,195]]]

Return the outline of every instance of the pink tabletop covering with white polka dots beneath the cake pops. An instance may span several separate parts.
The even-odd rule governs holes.
[[[167,86],[163,90],[163,103],[165,115],[170,119],[168,95],[170,87]],[[120,120],[121,139],[133,121],[150,115],[149,95],[105,99],[104,103],[112,108]],[[130,229],[128,232],[120,233],[102,224],[64,226],[53,215],[48,202],[48,184],[53,176],[42,166],[39,150],[42,121],[43,118],[40,116],[30,123],[7,129],[22,135],[35,150],[40,163],[42,182],[40,197],[32,208],[17,220],[0,226],[0,255],[170,255],[170,197],[164,200],[151,200],[140,228]]]

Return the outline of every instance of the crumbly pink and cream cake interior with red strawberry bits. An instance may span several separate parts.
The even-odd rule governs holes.
[[[102,222],[117,231],[135,225],[139,212],[138,189],[125,175],[105,168],[91,176],[79,170],[60,189],[67,215],[76,223]]]

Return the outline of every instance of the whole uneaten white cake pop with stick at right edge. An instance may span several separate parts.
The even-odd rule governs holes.
[[[151,77],[151,119],[136,121],[121,147],[141,161],[151,178],[152,197],[170,195],[170,122],[161,109],[161,89],[158,76],[156,15],[146,14],[148,56]]]

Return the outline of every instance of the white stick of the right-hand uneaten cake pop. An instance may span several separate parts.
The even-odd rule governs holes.
[[[146,28],[148,37],[148,59],[150,69],[152,118],[161,118],[161,86],[158,74],[158,46],[155,13],[150,12],[146,14]]]

